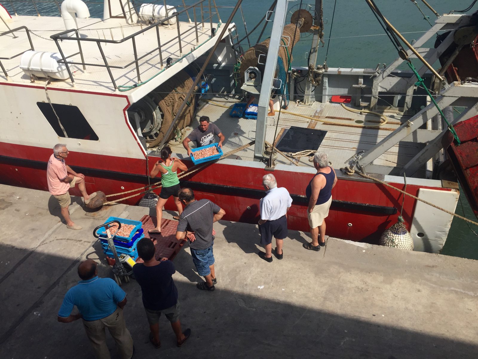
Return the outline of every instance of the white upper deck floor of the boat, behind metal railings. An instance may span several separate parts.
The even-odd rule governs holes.
[[[58,52],[58,48],[54,41],[50,39],[50,36],[65,31],[65,23],[61,17],[13,16],[13,20],[13,22],[9,23],[11,29],[20,26],[27,26],[29,28],[31,31],[31,38],[35,51],[47,51],[54,53]],[[103,22],[101,19],[96,18],[77,19],[77,22],[79,33],[82,38],[115,41],[121,40],[131,34],[141,31],[148,26],[145,23],[128,25]],[[2,24],[2,26],[4,25]],[[216,29],[217,23],[213,23],[212,26]],[[194,27],[194,21],[180,22],[181,33],[189,30],[186,34],[181,36],[181,53],[179,49],[179,42],[177,39],[175,39],[175,37],[178,36],[176,24],[169,26],[163,24],[159,26],[163,66],[166,67],[166,59],[168,57],[171,57],[173,59],[173,63],[175,64],[172,67],[165,69],[160,79],[153,81],[155,86],[158,86],[161,82],[174,76],[177,71],[196,60],[214,45],[215,40],[208,41],[211,34],[211,24],[209,22],[204,23],[204,26],[202,26],[201,23],[198,24],[197,43],[196,31],[194,30]],[[2,28],[2,30],[6,30],[6,28]],[[0,36],[0,57],[14,56],[30,49],[30,44],[25,30],[17,31],[14,34],[18,37],[15,38],[13,34]],[[158,46],[155,28],[153,27],[142,34],[135,36],[135,41],[138,58],[152,51],[152,49]],[[78,52],[78,43],[76,40],[64,40],[60,42],[60,45],[65,56],[69,56]],[[198,47],[198,45],[200,46]],[[131,39],[120,44],[102,43],[101,46],[109,66],[124,67],[135,59]],[[87,64],[104,65],[104,61],[96,42],[81,41],[81,48],[84,55],[84,60]],[[196,51],[190,53],[193,49],[196,49]],[[178,61],[183,56],[186,56],[186,58],[182,61]],[[21,56],[17,56],[11,60],[2,60],[2,63],[12,82],[31,84],[30,77],[26,75],[20,68],[20,57]],[[68,58],[68,61],[81,63],[80,55],[70,57]],[[176,63],[176,61],[178,62]],[[114,91],[114,86],[111,82],[106,67],[87,66],[86,70],[84,70],[81,65],[70,65],[70,68],[73,72],[77,90],[98,92]],[[139,62],[139,70],[141,81],[146,81],[162,71],[163,68],[161,67],[159,51],[154,51],[152,54],[141,59]],[[111,72],[118,86],[132,86],[140,82],[137,78],[135,64],[132,64],[126,68],[111,68]],[[5,76],[1,71],[0,79],[5,80]],[[46,83],[46,79],[35,79],[35,83],[44,85]],[[71,89],[73,85],[70,79],[52,80],[52,83],[49,85],[49,87]]]

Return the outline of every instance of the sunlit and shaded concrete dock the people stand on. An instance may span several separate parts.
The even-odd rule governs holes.
[[[80,231],[60,221],[48,192],[0,185],[1,358],[93,358],[81,320],[57,322],[63,296],[79,280],[80,260],[98,259],[99,275],[111,274],[94,227],[110,215],[154,213],[122,204],[90,213],[72,200]],[[196,289],[203,279],[187,244],[174,258],[180,319],[192,330],[182,348],[163,316],[162,347],[149,343],[141,289],[134,280],[122,285],[133,358],[478,357],[478,261],[334,238],[320,252],[306,251],[308,234],[290,231],[284,258],[267,263],[257,255],[257,226],[214,228],[215,292]]]

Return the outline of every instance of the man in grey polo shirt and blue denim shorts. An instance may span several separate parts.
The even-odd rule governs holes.
[[[197,283],[196,287],[212,292],[215,290],[214,284],[217,283],[212,250],[214,244],[212,224],[220,220],[226,212],[209,200],[196,201],[190,188],[179,191],[179,201],[185,209],[179,216],[176,239],[187,237],[197,272],[206,280]]]

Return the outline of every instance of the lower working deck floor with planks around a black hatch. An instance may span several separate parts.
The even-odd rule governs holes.
[[[211,122],[215,123],[226,136],[223,145],[223,152],[228,152],[239,146],[243,146],[255,139],[256,120],[230,117],[230,108],[237,100],[214,97],[203,101],[202,107],[196,115],[194,123],[187,127],[186,135],[199,125],[200,116],[209,116]],[[351,108],[350,104],[347,104]],[[324,140],[318,148],[306,148],[311,150],[320,149],[328,154],[330,161],[335,168],[342,167],[350,157],[360,151],[366,151],[371,146],[376,145],[384,137],[390,135],[393,130],[398,128],[402,122],[410,117],[401,116],[393,113],[384,113],[388,117],[388,122],[380,127],[377,125],[380,118],[374,114],[357,113],[345,110],[337,103],[314,102],[312,106],[299,105],[293,101],[289,103],[287,112],[275,111],[275,116],[267,118],[266,141],[274,143],[281,138],[284,131],[294,127],[309,128],[326,131]],[[315,117],[314,119],[304,118],[300,115]],[[277,121],[279,123],[277,125]],[[333,123],[328,123],[333,122]],[[375,128],[363,127],[363,125],[377,126]],[[274,138],[274,133],[277,134]],[[276,141],[277,144],[277,141]],[[372,163],[380,166],[402,167],[423,148],[423,144],[416,142],[402,141],[398,145],[391,147],[383,155]],[[174,151],[185,155],[186,151],[182,146],[174,147]],[[238,153],[237,156],[242,159],[252,160],[254,158],[254,147],[250,146]],[[301,157],[298,165],[310,166],[309,157]],[[278,155],[276,163],[291,164],[291,162]],[[384,173],[389,174],[389,173]],[[424,171],[418,171],[416,176],[424,178]]]

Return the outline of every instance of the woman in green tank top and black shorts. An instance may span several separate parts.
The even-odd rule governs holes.
[[[177,170],[186,171],[187,167],[180,159],[175,157],[171,158],[171,148],[168,146],[161,150],[161,158],[163,159],[163,162],[157,161],[151,170],[152,178],[156,177],[158,173],[161,173],[161,184],[163,187],[161,188],[158,203],[156,204],[156,228],[148,231],[149,234],[161,233],[163,206],[166,204],[169,197],[174,197],[174,204],[178,208],[179,214],[181,215],[181,213],[183,213],[183,205],[179,202],[178,197],[178,192],[181,190],[181,187],[179,187]],[[179,220],[179,216],[174,216],[173,218]]]

